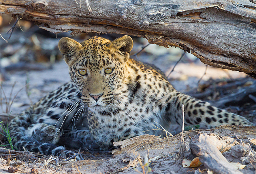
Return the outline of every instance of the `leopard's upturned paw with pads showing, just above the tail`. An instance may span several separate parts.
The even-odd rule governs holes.
[[[33,136],[39,142],[56,144],[59,141],[58,128],[53,125],[41,124],[33,130]]]

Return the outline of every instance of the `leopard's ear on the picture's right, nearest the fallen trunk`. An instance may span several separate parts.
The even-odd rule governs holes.
[[[110,49],[114,49],[114,52],[124,56],[124,62],[126,62],[129,58],[132,47],[133,41],[131,37],[127,35],[119,37],[109,44]]]

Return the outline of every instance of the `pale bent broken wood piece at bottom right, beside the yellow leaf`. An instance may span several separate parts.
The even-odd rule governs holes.
[[[230,149],[235,144],[238,142],[234,138],[204,133],[192,137],[189,145],[191,152],[199,156],[199,160],[211,171],[219,174],[242,174],[220,152]]]

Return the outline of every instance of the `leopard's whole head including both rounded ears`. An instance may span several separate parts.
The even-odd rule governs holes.
[[[111,104],[114,91],[123,86],[124,67],[133,47],[131,37],[112,42],[93,37],[82,43],[63,37],[58,46],[84,104],[91,110]]]

